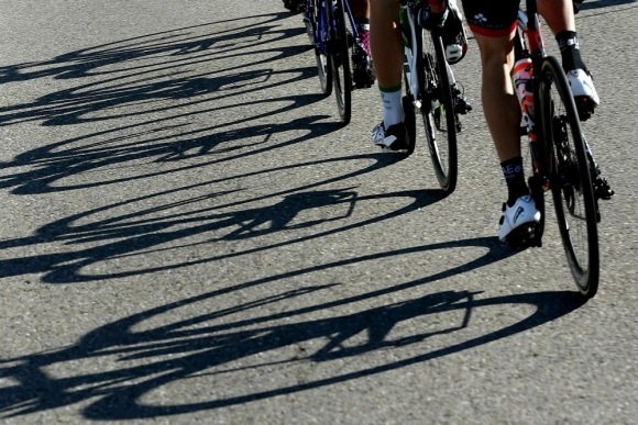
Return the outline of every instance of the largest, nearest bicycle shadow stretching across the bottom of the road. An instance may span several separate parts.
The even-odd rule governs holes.
[[[312,273],[354,262],[459,247],[482,247],[487,253],[431,276],[396,284],[388,282],[383,289],[331,301],[327,295],[337,283],[320,281],[227,307],[220,307],[226,304],[218,301],[226,294],[271,287],[284,279],[305,277],[307,281]],[[0,389],[0,416],[20,417],[75,403],[89,403],[81,412],[84,417],[101,421],[158,417],[240,405],[337,385],[465,351],[541,326],[583,304],[574,292],[480,298],[480,292],[448,290],[421,292],[416,299],[378,305],[382,297],[419,290],[439,279],[485,267],[503,256],[502,245],[492,237],[422,245],[271,276],[142,311],[95,329],[74,346],[0,360],[0,377],[12,382]],[[316,300],[321,301],[317,303]],[[376,306],[359,304],[373,300],[377,300]],[[480,309],[509,304],[527,305],[532,312],[525,318],[515,315],[512,323],[496,329],[466,335],[472,329],[472,315]],[[295,307],[289,309],[289,305]],[[356,311],[350,307],[348,313],[338,313],[342,306]],[[169,315],[179,309],[206,313],[195,313],[187,318],[178,315],[170,321]],[[318,312],[322,317],[317,318]],[[455,323],[433,331],[417,326],[398,337],[393,334],[394,328],[417,318],[447,323],[439,317],[449,313],[455,314]],[[346,344],[361,334],[366,335],[364,340]],[[443,334],[459,334],[459,338],[443,347],[425,345]],[[320,347],[314,348],[316,345],[311,342]],[[407,346],[419,349],[403,351]],[[395,355],[388,356],[388,353]],[[262,357],[265,354],[272,356]],[[366,361],[363,355],[381,357]],[[380,358],[384,359],[381,364]],[[330,368],[336,359],[345,364]],[[72,366],[82,365],[82,361],[92,366],[87,371]],[[72,368],[67,373],[62,372],[65,365]],[[106,370],[96,371],[96,365]],[[58,371],[59,378],[45,373],[52,368]],[[270,374],[273,369],[278,370],[280,373],[275,374],[282,379],[264,380],[264,374],[260,373],[264,368]],[[306,369],[312,372],[304,373]],[[299,373],[285,373],[292,370]],[[312,378],[284,378],[295,374]],[[237,385],[237,382],[244,382],[246,376],[252,379],[251,384]],[[183,394],[169,385],[190,379],[207,379],[204,391],[207,400],[189,402],[186,398],[180,404]],[[199,383],[201,385],[201,381]],[[177,391],[165,399],[172,402],[161,405],[144,401],[161,389]]]

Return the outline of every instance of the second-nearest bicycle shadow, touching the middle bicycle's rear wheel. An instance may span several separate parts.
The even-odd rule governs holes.
[[[367,156],[374,157],[374,156]],[[320,160],[330,163],[338,159]],[[314,163],[310,163],[314,164]],[[294,167],[302,167],[299,164]],[[234,195],[233,191],[211,192],[188,200],[172,200],[160,202],[161,206],[146,209],[133,209],[134,212],[117,215],[108,213],[109,210],[124,209],[131,211],[128,205],[136,202],[146,203],[152,198],[163,199],[173,197],[175,192],[186,188],[167,190],[153,195],[123,201],[118,204],[99,208],[96,210],[78,213],[64,220],[53,222],[41,227],[33,236],[0,241],[0,249],[29,247],[40,244],[59,244],[59,251],[54,254],[34,255],[30,257],[15,257],[0,260],[0,278],[42,273],[41,281],[47,283],[79,283],[105,279],[125,278],[131,276],[153,272],[165,272],[172,269],[180,269],[201,264],[253,255],[260,251],[268,251],[288,245],[319,239],[324,236],[339,234],[365,225],[381,223],[386,220],[406,214],[437,202],[443,198],[440,191],[400,191],[374,195],[359,195],[353,188],[316,190],[320,186],[339,180],[348,181],[356,175],[373,171],[384,167],[383,161],[373,164],[362,170],[355,170],[344,176],[315,181],[300,188],[293,188],[278,192],[270,192],[262,198],[251,198],[245,201],[229,201],[228,203],[216,202],[217,198]],[[210,182],[196,186],[208,186]],[[188,189],[194,189],[193,187]],[[315,189],[315,190],[311,190]],[[404,206],[391,210],[384,214],[354,221],[352,211],[358,202],[378,202],[382,200],[406,199]],[[234,197],[231,197],[234,199]],[[238,210],[238,206],[266,199],[279,199],[270,206],[257,206]],[[304,211],[316,211],[329,208],[329,215],[311,217],[310,220],[297,220]],[[227,211],[228,210],[228,211]],[[96,217],[90,220],[90,217]],[[215,242],[228,242],[255,237],[268,237],[284,231],[298,231],[318,225],[331,224],[328,228],[309,235],[292,233],[289,238],[280,241],[268,238],[266,244],[256,244],[240,250],[219,251],[211,249],[210,256],[190,260],[176,260],[163,262],[156,267],[133,270],[110,270],[108,275],[91,275],[87,272],[90,266],[111,259],[124,260],[128,257],[146,256],[152,253],[167,250],[179,253],[180,249],[193,247],[201,242],[191,242],[198,235],[210,235],[204,244]],[[182,242],[182,243],[180,243]],[[170,244],[170,248],[166,248]],[[87,246],[88,245],[88,246]],[[82,247],[74,249],[74,247]]]

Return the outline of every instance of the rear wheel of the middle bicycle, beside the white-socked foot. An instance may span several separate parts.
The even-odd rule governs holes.
[[[429,34],[429,36],[428,36]],[[447,193],[457,188],[459,125],[443,43],[437,32],[422,32],[422,94],[421,115],[430,158],[439,186]]]

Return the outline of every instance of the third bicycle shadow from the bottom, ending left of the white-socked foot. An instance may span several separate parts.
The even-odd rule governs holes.
[[[242,128],[220,131],[219,126],[200,127],[195,131],[158,135],[155,131],[141,131],[122,137],[117,128],[100,134],[92,134],[62,143],[54,143],[18,155],[12,161],[0,164],[0,188],[13,188],[14,194],[42,194],[47,192],[73,191],[103,187],[128,181],[161,178],[172,174],[202,169],[221,163],[241,160],[264,152],[290,145],[302,144],[319,135],[337,131],[339,126],[322,122],[326,115],[307,115],[290,122],[280,122],[279,115],[298,108],[305,108],[318,101],[320,97],[297,96],[271,99],[271,102],[289,101],[289,104],[273,112],[262,113],[258,119],[273,119],[267,124],[248,124],[251,119],[243,119]],[[268,101],[260,101],[265,104]],[[275,120],[276,118],[276,120]],[[162,131],[170,132],[177,125]],[[298,135],[283,142],[273,143],[273,136],[296,130]],[[129,128],[132,130],[132,128]],[[112,137],[108,133],[113,133]],[[107,138],[105,138],[105,136]],[[250,141],[243,141],[249,137]],[[143,137],[140,142],[138,137]],[[99,142],[87,142],[96,138]],[[176,139],[177,138],[177,139]],[[130,139],[130,141],[127,141]],[[196,164],[185,159],[198,159]],[[135,165],[151,163],[175,163],[173,168],[155,167],[142,174],[111,172],[103,178],[68,183],[65,179],[94,171],[108,171],[124,167],[134,169]],[[179,163],[179,161],[183,161]],[[30,169],[23,170],[24,167]],[[11,169],[19,169],[11,172]]]

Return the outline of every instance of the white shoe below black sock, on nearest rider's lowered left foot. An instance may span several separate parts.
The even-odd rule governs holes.
[[[534,238],[536,225],[540,223],[540,211],[531,195],[520,197],[514,205],[503,204],[503,216],[498,239],[508,245],[529,245],[528,238]]]

